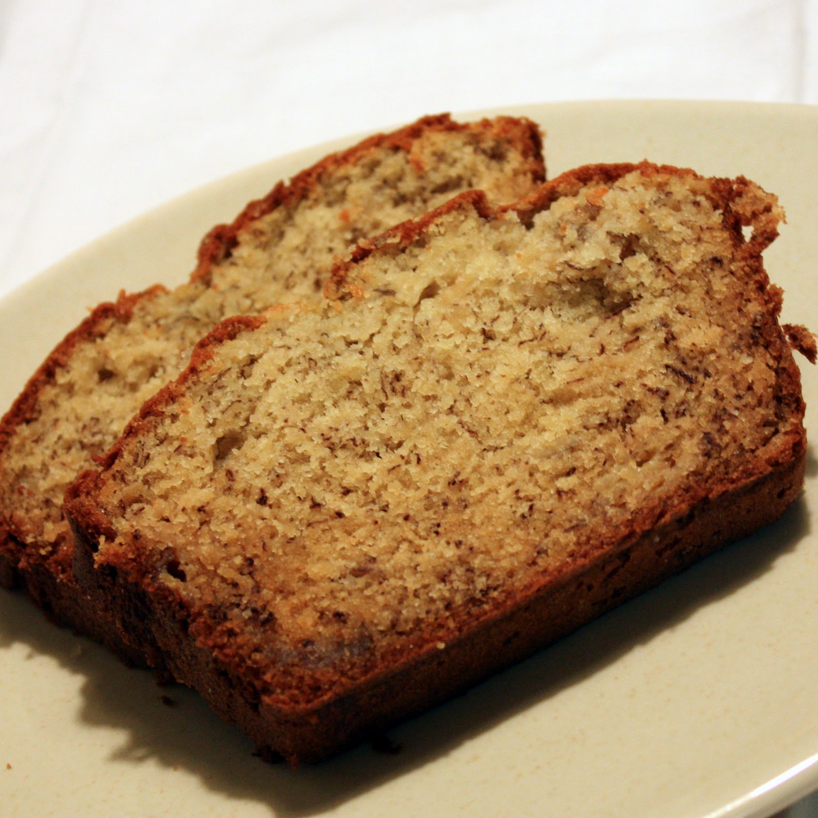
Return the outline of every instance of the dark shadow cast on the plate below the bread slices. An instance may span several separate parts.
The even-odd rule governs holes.
[[[818,464],[811,457],[809,473]],[[197,775],[214,793],[260,802],[275,816],[311,816],[406,775],[491,730],[561,690],[587,679],[629,651],[675,627],[698,609],[733,593],[771,569],[809,532],[801,497],[774,525],[694,565],[605,614],[551,648],[467,694],[398,726],[384,753],[365,745],[298,770],[250,756],[249,741],[218,719],[204,701],[178,685],[159,687],[150,673],[128,670],[104,649],[49,625],[19,594],[0,600],[0,649],[15,642],[51,655],[85,677],[79,721],[128,731],[110,762],[151,760]]]

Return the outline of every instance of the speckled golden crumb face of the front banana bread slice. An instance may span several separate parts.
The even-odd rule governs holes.
[[[271,312],[110,467],[101,560],[159,566],[194,633],[303,694],[728,479],[783,421],[706,187],[635,172],[531,224],[456,210],[343,299]]]

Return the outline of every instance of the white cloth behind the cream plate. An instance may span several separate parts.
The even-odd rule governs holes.
[[[0,295],[286,151],[626,97],[818,103],[818,0],[0,0]]]

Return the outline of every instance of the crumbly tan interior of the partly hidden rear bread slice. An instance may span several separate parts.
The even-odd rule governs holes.
[[[18,425],[0,459],[0,518],[27,534],[29,560],[61,549],[55,570],[70,567],[65,488],[92,455],[178,375],[196,341],[222,318],[276,303],[321,299],[336,257],[473,187],[510,202],[533,187],[532,160],[519,133],[480,124],[429,130],[410,150],[376,147],[353,164],[323,173],[308,196],[258,218],[206,280],[137,303],[130,321],[110,320],[102,337],[77,348],[56,382],[38,396],[38,416]]]

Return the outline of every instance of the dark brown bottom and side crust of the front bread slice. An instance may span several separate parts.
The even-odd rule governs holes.
[[[178,681],[198,690],[255,741],[263,757],[317,762],[442,703],[771,524],[798,497],[805,467],[806,448],[798,447],[792,460],[761,478],[699,501],[685,515],[582,564],[567,564],[559,576],[475,622],[445,648],[424,645],[347,690],[303,706],[267,703],[229,663],[196,644],[185,618],[115,569],[97,569],[94,546],[82,530],[75,530],[74,573],[88,605],[113,614],[119,636],[137,654],[166,665]]]

